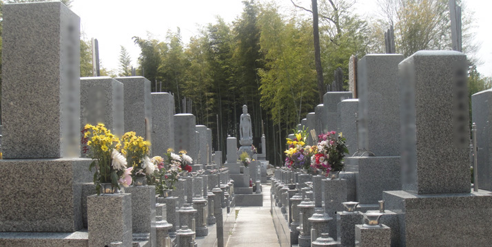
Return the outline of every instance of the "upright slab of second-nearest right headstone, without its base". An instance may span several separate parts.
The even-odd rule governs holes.
[[[357,64],[358,147],[377,156],[400,155],[401,54],[368,54]]]

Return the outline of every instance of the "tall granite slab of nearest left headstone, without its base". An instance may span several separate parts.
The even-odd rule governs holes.
[[[80,154],[80,18],[61,2],[2,7],[3,158]]]

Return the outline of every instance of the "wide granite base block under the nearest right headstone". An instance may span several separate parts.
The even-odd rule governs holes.
[[[490,191],[433,195],[385,191],[383,200],[386,208],[398,213],[400,246],[489,246],[492,242]]]

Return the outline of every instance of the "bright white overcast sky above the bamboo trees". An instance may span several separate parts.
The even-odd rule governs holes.
[[[492,76],[492,32],[490,11],[492,1],[463,0],[467,8],[475,12],[476,41],[481,43],[478,57],[482,65],[478,71]],[[277,0],[285,6],[285,13],[292,11],[290,0]],[[309,0],[297,0],[309,8]],[[359,0],[357,12],[371,14],[376,10],[376,0]],[[72,10],[81,17],[81,32],[84,39],[96,38],[99,41],[99,57],[107,69],[118,69],[120,45],[132,56],[136,66],[140,49],[134,45],[133,36],[154,38],[163,41],[167,30],[181,28],[183,42],[198,34],[198,28],[214,23],[216,16],[227,23],[234,21],[243,11],[241,0],[74,0]],[[348,58],[347,58],[348,63]]]

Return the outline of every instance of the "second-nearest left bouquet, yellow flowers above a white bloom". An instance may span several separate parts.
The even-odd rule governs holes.
[[[127,163],[133,167],[134,185],[143,185],[144,178],[151,182],[155,167],[148,157],[150,142],[143,140],[141,136],[136,136],[134,131],[125,133],[121,140],[123,141],[121,153],[126,156]]]

